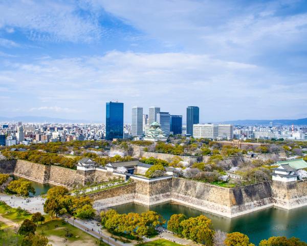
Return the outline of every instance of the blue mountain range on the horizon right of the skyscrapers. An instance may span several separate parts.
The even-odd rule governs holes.
[[[240,126],[269,126],[270,122],[276,125],[305,125],[307,126],[307,118],[303,119],[239,119],[224,121],[225,124],[240,125]]]

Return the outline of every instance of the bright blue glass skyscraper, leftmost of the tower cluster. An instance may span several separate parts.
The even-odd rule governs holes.
[[[124,137],[124,104],[106,103],[105,139]]]

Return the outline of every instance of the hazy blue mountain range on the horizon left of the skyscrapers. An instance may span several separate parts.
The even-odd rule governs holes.
[[[61,118],[51,118],[45,116],[16,116],[16,117],[2,117],[0,116],[0,122],[11,122],[11,121],[23,121],[23,122],[33,122],[33,123],[97,123],[95,120],[86,119],[61,119]]]

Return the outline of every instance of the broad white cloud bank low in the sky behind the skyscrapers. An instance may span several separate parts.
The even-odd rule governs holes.
[[[208,55],[112,51],[104,56],[49,58],[7,66],[0,71],[0,85],[14,92],[31,112],[48,116],[104,121],[105,102],[118,99],[125,104],[127,122],[134,105],[143,106],[144,112],[159,105],[184,117],[187,106],[197,105],[201,121],[208,122],[291,117],[293,108],[297,116],[307,103],[301,94],[307,86],[304,77],[285,77],[253,64]],[[12,100],[8,107],[17,107],[20,101],[14,104]]]

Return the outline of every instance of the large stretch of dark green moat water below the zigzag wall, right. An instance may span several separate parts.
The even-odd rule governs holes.
[[[293,210],[269,208],[231,219],[173,202],[150,207],[128,203],[113,209],[118,213],[142,213],[150,209],[161,214],[166,220],[172,214],[182,213],[187,217],[204,214],[212,220],[214,229],[224,232],[242,232],[247,234],[253,243],[259,243],[260,240],[272,236],[298,237],[307,241],[307,207]]]

